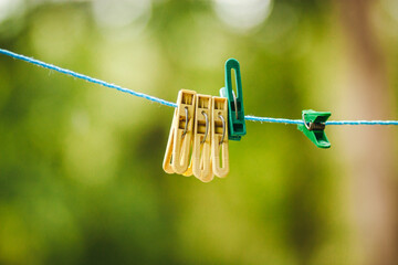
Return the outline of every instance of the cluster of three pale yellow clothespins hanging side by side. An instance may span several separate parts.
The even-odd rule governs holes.
[[[163,168],[209,182],[229,172],[227,98],[178,93]]]

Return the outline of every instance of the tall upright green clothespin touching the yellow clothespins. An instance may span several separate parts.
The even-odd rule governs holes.
[[[235,73],[237,94],[232,89],[231,71]],[[226,86],[220,89],[220,96],[228,98],[228,139],[240,140],[247,134],[243,108],[242,82],[239,62],[229,59],[226,62]]]

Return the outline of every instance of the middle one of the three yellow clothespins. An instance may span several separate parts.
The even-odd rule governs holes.
[[[212,98],[197,95],[193,126],[193,147],[191,169],[199,180],[209,182],[213,179],[211,168],[211,107]]]

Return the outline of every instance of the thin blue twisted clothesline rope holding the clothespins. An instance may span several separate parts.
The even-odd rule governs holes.
[[[73,76],[73,77],[76,77],[80,80],[84,80],[86,82],[91,82],[91,83],[98,84],[98,85],[102,85],[105,87],[114,88],[116,91],[127,93],[133,96],[142,97],[142,98],[148,99],[150,102],[159,103],[159,104],[168,106],[168,107],[177,107],[176,103],[171,103],[171,102],[168,102],[168,100],[155,97],[155,96],[150,96],[150,95],[147,95],[147,94],[144,94],[140,92],[135,92],[135,91],[132,91],[132,89],[128,89],[128,88],[125,88],[125,87],[122,87],[122,86],[118,86],[115,84],[107,83],[102,80],[97,80],[97,78],[90,77],[84,74],[73,72],[71,70],[66,70],[66,68],[62,68],[62,67],[59,67],[53,64],[44,63],[40,60],[28,57],[25,55],[13,53],[13,52],[10,52],[10,51],[3,50],[3,49],[0,49],[0,54],[4,54],[7,56],[18,59],[18,60],[24,61],[27,63],[31,63],[31,64],[44,67],[44,68],[53,70],[59,73],[65,74],[65,75],[70,75],[70,76]],[[250,120],[250,121],[273,123],[273,124],[295,124],[295,125],[304,124],[304,121],[302,119],[256,117],[256,116],[251,116],[251,115],[244,116],[244,119]],[[338,121],[331,120],[331,121],[326,121],[326,125],[398,125],[398,120],[338,120]]]

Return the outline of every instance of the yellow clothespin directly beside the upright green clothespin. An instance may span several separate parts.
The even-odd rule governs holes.
[[[223,178],[229,172],[228,99],[213,96],[212,100],[211,162],[214,174]]]

